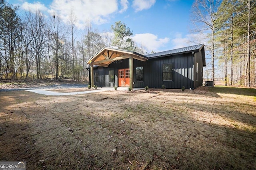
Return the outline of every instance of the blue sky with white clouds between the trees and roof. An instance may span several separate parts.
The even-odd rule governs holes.
[[[116,21],[126,23],[133,31],[133,40],[148,52],[195,45],[189,43],[197,37],[190,33],[190,10],[193,0],[9,0],[25,10],[40,9],[46,16],[58,15],[64,23],[73,10],[76,26],[82,34],[88,21],[99,32],[110,31]],[[198,42],[202,43],[202,42]]]

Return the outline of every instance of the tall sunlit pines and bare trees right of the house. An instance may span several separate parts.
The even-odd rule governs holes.
[[[195,0],[191,20],[208,39],[211,68],[205,73],[214,80],[217,65],[225,85],[256,86],[256,1]]]

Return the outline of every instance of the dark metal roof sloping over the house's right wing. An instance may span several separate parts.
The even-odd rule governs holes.
[[[165,56],[177,55],[177,54],[183,54],[183,53],[200,52],[201,50],[202,50],[203,65],[206,66],[204,44],[193,45],[189,47],[183,47],[183,48],[163,51],[159,53],[152,53],[145,56],[148,57],[149,59],[153,59],[153,58],[165,57]]]

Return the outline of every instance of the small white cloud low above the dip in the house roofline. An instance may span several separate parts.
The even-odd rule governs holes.
[[[143,44],[149,51],[158,51],[159,47],[169,42],[169,38],[158,39],[157,35],[151,33],[135,34],[132,39],[137,44]]]

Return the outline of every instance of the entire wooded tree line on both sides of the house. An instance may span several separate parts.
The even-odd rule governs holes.
[[[64,24],[55,14],[27,11],[18,16],[18,7],[0,0],[0,79],[62,78],[88,80],[86,61],[102,47],[116,47],[145,54],[137,47],[132,31],[116,22],[111,31],[99,33],[88,23],[78,38],[76,16],[70,12]],[[192,30],[202,36],[211,56],[204,75],[215,80],[223,72],[226,85],[256,85],[256,1],[195,0]]]

